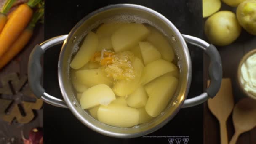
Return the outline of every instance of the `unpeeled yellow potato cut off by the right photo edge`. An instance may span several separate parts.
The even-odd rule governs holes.
[[[237,7],[237,20],[247,32],[256,35],[256,0],[246,0]]]

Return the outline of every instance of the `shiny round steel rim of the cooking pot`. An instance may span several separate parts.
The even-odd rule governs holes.
[[[73,101],[71,99],[69,99],[69,96],[67,96],[67,93],[66,93],[66,91],[64,89],[63,80],[61,78],[61,75],[62,75],[62,73],[61,73],[62,63],[60,61],[62,61],[62,59],[63,59],[63,53],[64,53],[65,49],[67,48],[67,42],[71,41],[72,35],[74,35],[74,33],[77,30],[77,28],[79,28],[87,19],[91,18],[91,16],[94,16],[97,13],[101,13],[102,11],[106,11],[106,10],[114,9],[114,8],[137,8],[137,9],[140,9],[140,10],[143,10],[143,11],[148,11],[149,13],[151,13],[151,14],[159,17],[160,19],[162,19],[175,32],[176,38],[179,39],[181,45],[183,45],[183,47],[184,47],[184,54],[187,57],[187,59],[186,59],[187,66],[186,67],[187,67],[188,75],[187,75],[187,77],[184,77],[184,79],[187,79],[186,91],[184,92],[184,98],[181,100],[181,102],[179,103],[179,106],[177,106],[177,108],[174,110],[174,112],[168,118],[163,120],[161,123],[159,123],[155,127],[150,128],[150,129],[148,129],[146,131],[143,131],[143,132],[140,132],[140,133],[127,133],[127,134],[114,133],[114,132],[110,132],[110,131],[98,128],[98,127],[94,126],[92,123],[88,122],[84,117],[82,117],[76,111],[75,107],[77,107],[77,106],[73,103]],[[93,11],[93,12],[89,13],[88,15],[86,15],[85,17],[83,17],[83,19],[81,19],[75,25],[75,27],[73,27],[72,30],[69,32],[69,35],[68,35],[67,39],[64,41],[64,43],[62,45],[61,52],[60,52],[60,55],[59,55],[59,61],[58,61],[59,87],[60,87],[61,93],[63,95],[64,101],[67,103],[67,106],[69,107],[71,112],[75,115],[75,117],[77,117],[78,120],[80,120],[88,128],[91,128],[93,131],[96,131],[96,132],[101,133],[101,134],[106,135],[106,136],[113,136],[113,137],[117,137],[117,138],[135,138],[135,137],[139,137],[139,136],[144,136],[144,135],[147,135],[149,133],[152,133],[152,132],[158,130],[159,128],[163,127],[166,123],[168,123],[179,112],[179,110],[182,107],[182,104],[184,103],[185,99],[187,98],[188,89],[190,88],[191,79],[192,79],[191,76],[192,76],[192,64],[191,64],[189,50],[187,48],[187,43],[185,42],[185,40],[182,37],[182,35],[179,32],[179,30],[174,26],[174,24],[171,21],[169,21],[162,14],[158,13],[157,11],[155,11],[155,10],[153,10],[151,8],[147,8],[145,6],[136,5],[136,4],[114,4],[114,5],[107,5],[105,7],[99,8],[96,11]]]

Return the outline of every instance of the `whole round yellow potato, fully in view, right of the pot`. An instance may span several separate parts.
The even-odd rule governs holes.
[[[205,35],[214,45],[225,46],[234,42],[241,33],[235,13],[219,11],[205,22]]]

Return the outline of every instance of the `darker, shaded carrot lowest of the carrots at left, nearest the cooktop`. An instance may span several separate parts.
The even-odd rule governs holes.
[[[0,69],[2,69],[16,54],[18,54],[22,48],[29,42],[33,34],[33,29],[37,21],[43,16],[44,9],[38,9],[32,17],[32,20],[28,24],[27,28],[19,35],[18,39],[11,45],[5,54],[0,58]]]

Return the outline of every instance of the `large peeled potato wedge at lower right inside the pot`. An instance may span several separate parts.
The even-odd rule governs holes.
[[[145,109],[151,117],[157,117],[165,109],[177,85],[178,79],[170,75],[163,75],[145,85],[149,95]]]

